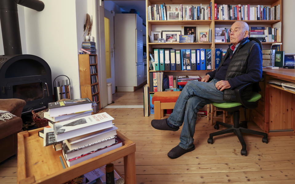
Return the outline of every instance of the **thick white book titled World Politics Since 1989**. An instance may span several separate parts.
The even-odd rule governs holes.
[[[103,112],[53,124],[57,141],[63,141],[112,126],[112,116]]]

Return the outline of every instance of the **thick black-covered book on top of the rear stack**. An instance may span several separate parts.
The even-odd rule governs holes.
[[[48,103],[50,117],[73,114],[92,110],[92,101],[89,98],[65,100],[61,102]]]

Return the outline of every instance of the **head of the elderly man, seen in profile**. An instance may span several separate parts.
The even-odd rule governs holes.
[[[236,45],[241,42],[242,39],[248,36],[249,31],[243,31],[243,25],[239,22],[235,22],[230,27],[230,43]]]

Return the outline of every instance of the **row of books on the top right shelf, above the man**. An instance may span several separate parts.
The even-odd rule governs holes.
[[[273,7],[257,5],[217,5],[214,4],[215,20],[280,20],[281,5]]]

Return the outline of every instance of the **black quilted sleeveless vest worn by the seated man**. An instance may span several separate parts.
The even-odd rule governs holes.
[[[251,49],[254,46],[254,44],[258,44],[258,43],[255,41],[249,41],[249,39],[246,39],[244,42],[240,43],[237,50],[232,55],[230,65],[227,68],[226,77],[225,77],[226,81],[229,80],[230,78],[234,78],[236,76],[247,73],[248,57],[250,55]],[[220,68],[220,66],[222,66],[223,62],[229,57],[230,52],[231,52],[231,49],[228,48],[225,56],[222,58],[221,63],[219,64],[219,67],[216,69],[216,71]],[[246,89],[242,97],[248,100],[251,97],[251,93],[252,93],[252,87]],[[223,90],[223,100],[238,101],[235,96],[234,90],[232,89]]]

